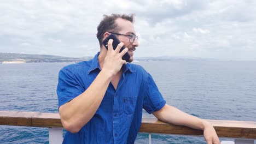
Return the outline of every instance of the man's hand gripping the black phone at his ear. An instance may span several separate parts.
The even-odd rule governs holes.
[[[108,73],[110,73],[110,76],[114,76],[118,73],[118,71],[120,71],[123,64],[127,64],[127,62],[123,60],[122,57],[125,55],[128,49],[125,48],[123,51],[120,52],[121,47],[124,46],[124,43],[119,43],[116,49],[114,50],[113,39],[109,39],[107,45],[108,51],[104,59],[104,65],[102,70],[104,69],[108,71]]]

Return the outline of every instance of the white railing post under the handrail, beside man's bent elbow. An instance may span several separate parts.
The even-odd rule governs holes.
[[[62,143],[63,131],[62,128],[49,128],[49,143]]]

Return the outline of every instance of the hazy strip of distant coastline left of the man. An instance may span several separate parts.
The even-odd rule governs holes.
[[[22,53],[2,53],[0,52],[0,63],[17,61],[17,59],[24,59],[27,63],[53,63],[53,62],[80,62],[88,61],[92,57],[61,57],[53,55],[30,55]]]

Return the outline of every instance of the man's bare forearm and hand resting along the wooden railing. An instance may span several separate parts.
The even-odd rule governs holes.
[[[187,113],[178,110],[177,108],[165,105],[159,111],[153,112],[153,115],[166,123],[172,123],[176,125],[185,125],[194,129],[203,130],[203,136],[207,144],[219,144],[219,138],[212,125],[203,119],[188,115]]]

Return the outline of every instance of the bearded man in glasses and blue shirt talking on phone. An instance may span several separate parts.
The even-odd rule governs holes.
[[[104,15],[97,30],[100,52],[59,73],[59,113],[67,130],[63,143],[134,143],[142,109],[161,121],[202,129],[207,143],[220,143],[210,123],[167,105],[152,76],[121,59],[128,52],[132,62],[138,46],[133,15]],[[121,41],[115,50],[112,39],[108,50],[102,45],[110,34]]]

